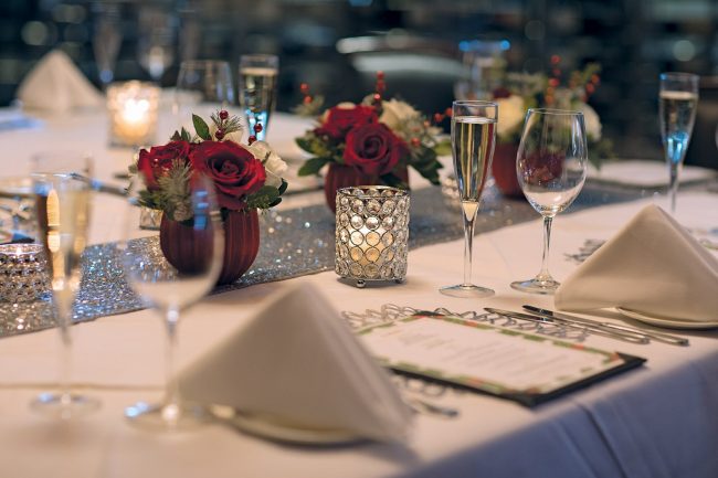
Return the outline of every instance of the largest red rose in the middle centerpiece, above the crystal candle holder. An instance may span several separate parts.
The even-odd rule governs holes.
[[[381,123],[370,123],[347,134],[344,160],[370,176],[391,172],[399,160],[409,152],[406,144]]]

